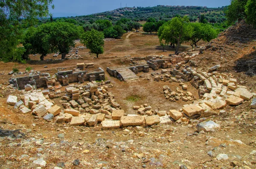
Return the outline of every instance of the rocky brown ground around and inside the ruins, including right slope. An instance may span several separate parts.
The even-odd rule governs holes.
[[[255,37],[251,31],[248,31],[250,29],[252,28],[245,26],[244,23],[231,27],[209,43],[204,54],[194,57],[192,59],[194,62],[190,63],[195,64],[193,67],[198,72],[207,71],[210,67],[221,64],[218,73],[232,73],[237,79],[237,85],[247,86],[250,92],[255,92],[255,77],[250,77],[253,71],[236,69],[236,63],[240,63],[237,60],[241,58],[251,60],[255,52],[253,49]],[[133,36],[135,35],[131,37]],[[127,45],[128,42],[125,41],[125,44]],[[125,54],[127,53],[126,51]],[[87,56],[84,59],[87,59]],[[131,63],[126,58],[118,57],[103,57],[102,60],[89,61],[94,62],[96,66],[101,66],[104,70],[108,66],[105,63],[111,63],[111,65]],[[56,72],[53,70],[56,66],[70,69],[78,62],[81,61],[66,60],[56,65],[49,64],[49,68],[43,68],[47,64],[44,62],[39,64],[37,69],[40,71],[49,69],[47,72],[53,74]],[[251,65],[253,65],[252,61],[250,61],[250,68]],[[166,95],[163,95],[163,86],[168,85],[175,90],[179,83],[154,81],[150,73],[145,74],[150,80],[129,83],[120,82],[106,73],[107,79],[113,84],[113,88],[109,91],[116,96],[115,99],[122,109],[132,112],[134,111],[132,106],[144,103],[148,103],[153,109],[158,107],[161,110],[181,109],[182,105],[193,103],[183,100],[177,100],[174,103],[166,100]],[[221,111],[218,110],[218,115],[210,117],[199,117],[189,121],[173,120],[168,124],[148,127],[128,126],[103,130],[100,125],[70,126],[67,123],[46,121],[31,113],[21,113],[20,110],[7,105],[6,100],[9,95],[20,95],[22,92],[6,88],[7,79],[10,76],[3,73],[2,77],[1,83],[6,84],[0,86],[0,168],[256,168],[256,111],[250,108],[251,100],[244,100],[239,106],[226,106]],[[192,88],[190,83],[185,84],[198,100],[197,90]],[[127,98],[131,95],[138,95],[140,99],[128,101]],[[60,99],[53,100],[58,103]],[[199,132],[198,124],[205,122],[214,122],[217,126],[207,132],[201,130]]]

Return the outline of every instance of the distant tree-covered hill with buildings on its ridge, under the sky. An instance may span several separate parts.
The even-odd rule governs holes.
[[[209,23],[222,23],[226,20],[224,16],[224,8],[207,8],[202,6],[154,6],[154,7],[125,7],[112,11],[105,11],[96,14],[68,17],[76,20],[78,23],[88,24],[96,20],[106,19],[113,22],[120,18],[127,18],[134,21],[146,21],[149,17],[154,17],[156,20],[170,20],[173,17],[180,15],[188,15],[190,21],[195,22],[202,14],[205,15]],[[55,16],[53,16],[55,17]],[[63,18],[63,17],[62,17]],[[55,18],[55,20],[61,19]],[[42,19],[42,22],[47,22],[48,19]]]

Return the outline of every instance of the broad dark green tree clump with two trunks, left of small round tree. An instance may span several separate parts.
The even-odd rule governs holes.
[[[79,38],[83,29],[73,23],[49,22],[30,28],[24,37],[25,54],[41,54],[40,59],[52,52],[61,52],[61,59],[66,57],[74,41]]]

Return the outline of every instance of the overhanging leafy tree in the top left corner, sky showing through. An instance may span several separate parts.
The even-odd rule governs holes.
[[[52,0],[0,0],[0,60],[23,60],[24,49],[18,47],[23,33],[19,20],[24,18],[32,24],[36,18],[46,17],[51,3]]]

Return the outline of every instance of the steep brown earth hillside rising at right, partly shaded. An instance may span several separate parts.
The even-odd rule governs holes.
[[[241,82],[250,85],[256,79],[253,77],[256,74],[255,46],[256,29],[241,20],[209,42],[204,54],[200,54],[194,61],[204,71],[220,64],[221,72],[235,74]]]

